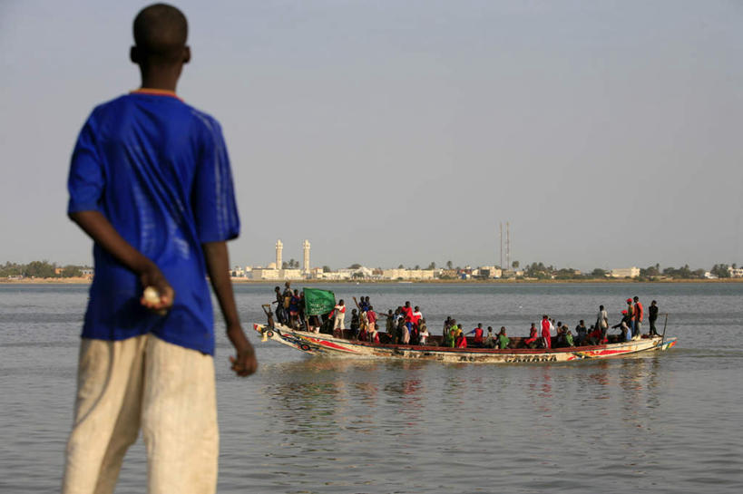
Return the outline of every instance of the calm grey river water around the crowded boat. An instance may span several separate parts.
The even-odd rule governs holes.
[[[410,300],[436,334],[446,315],[513,335],[543,313],[573,327],[600,304],[614,324],[639,295],[670,313],[679,344],[498,366],[317,359],[249,334],[260,367],[242,380],[218,326],[220,493],[743,490],[743,284],[328,289],[377,311]],[[249,330],[272,286],[236,291]],[[59,488],[86,300],[87,286],[0,286],[0,492]],[[144,492],[144,470],[138,441],[117,492]]]

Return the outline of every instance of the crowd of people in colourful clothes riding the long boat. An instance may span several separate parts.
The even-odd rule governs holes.
[[[279,286],[274,289],[277,305],[276,315],[280,324],[292,329],[299,329],[315,333],[334,334],[337,337],[347,337],[352,340],[365,341],[374,344],[405,344],[427,345],[432,344],[431,334],[425,317],[418,305],[411,305],[406,301],[398,305],[395,310],[388,309],[386,314],[378,315],[371,304],[369,296],[353,297],[356,308],[351,309],[350,325],[346,328],[347,305],[343,299],[339,300],[333,311],[326,315],[304,315],[303,294],[292,290],[289,282],[281,292]],[[452,317],[446,317],[442,337],[436,338],[435,344],[450,348],[560,348],[572,346],[586,346],[606,344],[610,342],[610,329],[618,329],[619,333],[611,337],[612,342],[638,340],[641,337],[645,310],[640,297],[634,296],[626,300],[626,307],[621,311],[621,321],[618,324],[609,324],[609,315],[603,305],[599,306],[596,322],[587,325],[581,319],[573,329],[562,321],[556,321],[549,315],[543,315],[539,326],[532,323],[529,335],[512,339],[505,326],[494,334],[493,326],[477,324],[474,329],[465,332],[463,324],[457,323]],[[269,318],[272,316],[267,311]],[[648,337],[658,334],[655,323],[658,319],[658,303],[653,300],[648,308],[648,322],[650,329]],[[382,333],[380,321],[384,320],[385,332]],[[472,337],[468,338],[468,335]]]

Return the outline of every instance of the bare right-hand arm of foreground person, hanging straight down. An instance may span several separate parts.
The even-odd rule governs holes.
[[[235,295],[232,292],[232,282],[230,281],[230,255],[227,251],[227,243],[209,242],[203,244],[202,248],[211,287],[217,295],[224,322],[227,324],[227,337],[230,338],[230,342],[235,347],[235,352],[237,352],[236,356],[230,356],[232,370],[242,377],[249,376],[258,369],[258,361],[253,345],[250,344],[248,337],[240,326],[240,316],[235,305]]]

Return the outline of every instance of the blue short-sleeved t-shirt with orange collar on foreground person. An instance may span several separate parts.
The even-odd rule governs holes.
[[[152,333],[214,354],[201,244],[240,233],[219,123],[171,93],[132,92],[103,103],[80,132],[68,189],[68,213],[101,212],[175,290],[168,314],[153,314],[140,304],[138,276],[95,245],[83,338]]]

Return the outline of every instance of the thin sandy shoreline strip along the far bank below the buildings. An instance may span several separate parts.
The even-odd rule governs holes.
[[[329,280],[329,279],[270,279],[252,280],[231,278],[234,285],[281,285],[286,281],[297,285],[564,285],[564,284],[626,284],[634,285],[641,283],[743,283],[741,278],[719,278],[719,279],[435,279],[435,280]],[[90,285],[91,279],[87,277],[70,278],[24,278],[24,279],[0,279],[0,285]]]

